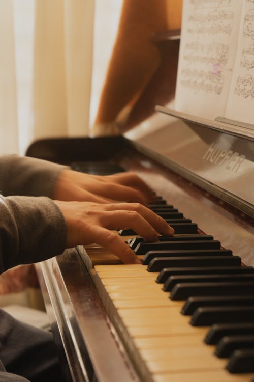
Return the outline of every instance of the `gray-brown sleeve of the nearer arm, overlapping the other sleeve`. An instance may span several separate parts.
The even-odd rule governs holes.
[[[0,272],[65,249],[65,219],[52,200],[0,196],[0,216]]]

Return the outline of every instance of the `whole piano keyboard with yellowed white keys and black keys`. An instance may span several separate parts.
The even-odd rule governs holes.
[[[173,209],[159,203],[161,215]],[[180,232],[145,243],[120,231],[143,265],[120,265],[103,248],[86,248],[105,309],[142,380],[250,382],[254,268],[197,228]]]

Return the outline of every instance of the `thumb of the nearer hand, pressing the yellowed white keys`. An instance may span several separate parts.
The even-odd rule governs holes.
[[[133,250],[114,232],[99,226],[92,227],[90,232],[92,242],[96,242],[119,257],[124,264],[141,264]]]

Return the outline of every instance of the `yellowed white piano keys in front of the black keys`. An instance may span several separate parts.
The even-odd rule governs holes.
[[[142,380],[156,382],[250,381],[232,375],[228,360],[205,345],[207,326],[189,324],[182,302],[171,301],[142,265],[98,265],[94,282],[107,313],[139,370]]]

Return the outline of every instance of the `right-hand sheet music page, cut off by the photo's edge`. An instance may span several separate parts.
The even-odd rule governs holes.
[[[254,0],[243,2],[235,67],[225,117],[253,124],[254,129]]]

